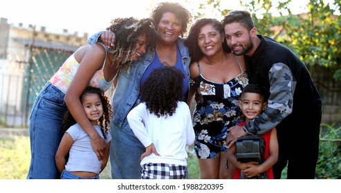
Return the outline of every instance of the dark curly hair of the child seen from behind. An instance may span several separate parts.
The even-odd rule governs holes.
[[[174,67],[154,69],[141,88],[141,102],[156,116],[172,116],[183,100],[183,72]]]

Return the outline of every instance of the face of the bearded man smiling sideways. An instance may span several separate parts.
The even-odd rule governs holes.
[[[228,47],[237,56],[246,54],[252,55],[252,49],[254,47],[252,37],[256,35],[256,28],[248,31],[241,23],[230,23],[224,26],[225,39],[228,43]]]

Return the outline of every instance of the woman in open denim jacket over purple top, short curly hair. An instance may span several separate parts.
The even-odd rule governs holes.
[[[163,66],[178,68],[185,75],[183,81],[183,101],[187,102],[190,88],[190,57],[183,44],[183,35],[192,18],[190,12],[181,4],[173,2],[159,3],[151,12],[154,28],[158,35],[155,51],[147,52],[129,66],[118,72],[116,91],[112,96],[113,120],[111,121],[110,163],[111,178],[140,179],[140,156],[145,146],[131,131],[127,121],[129,111],[140,103],[140,88],[151,71]],[[89,39],[93,44],[100,40],[111,45],[112,32],[99,32]],[[116,39],[119,34],[115,34]],[[117,41],[116,41],[117,43]],[[114,44],[116,44],[114,43]],[[129,154],[127,154],[129,150]]]

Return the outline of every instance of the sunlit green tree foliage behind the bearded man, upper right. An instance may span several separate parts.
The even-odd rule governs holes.
[[[321,65],[333,72],[334,81],[341,80],[341,1],[311,0],[308,12],[302,14],[291,12],[291,0],[239,2],[252,15],[260,34],[291,48],[311,71]],[[230,11],[221,8],[220,0],[207,1],[207,5],[221,12],[221,17]]]

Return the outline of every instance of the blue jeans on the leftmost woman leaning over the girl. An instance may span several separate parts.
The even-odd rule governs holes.
[[[31,161],[27,179],[59,179],[55,153],[62,139],[62,121],[66,113],[64,93],[46,83],[33,103],[30,114]]]

